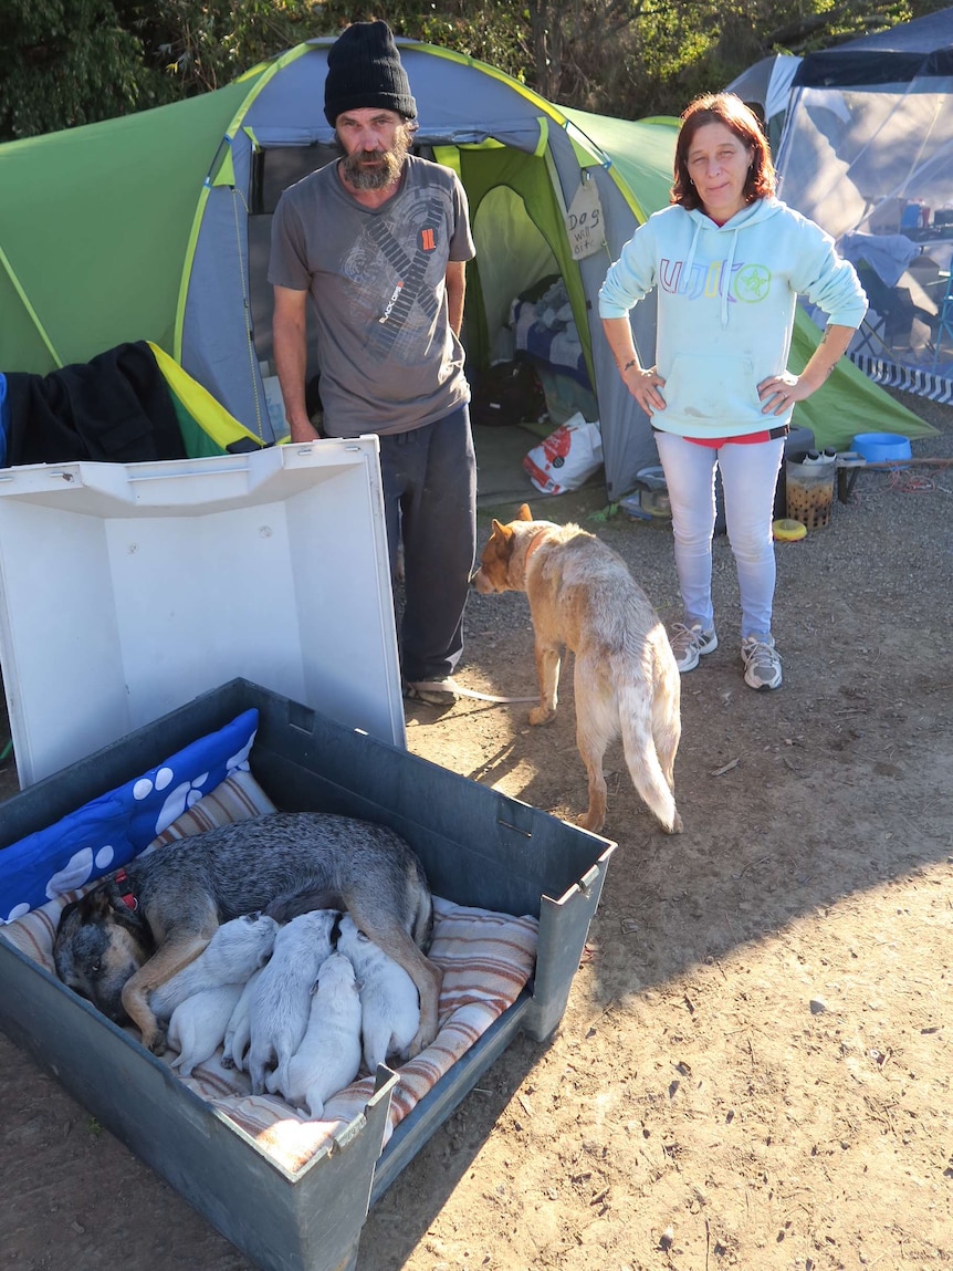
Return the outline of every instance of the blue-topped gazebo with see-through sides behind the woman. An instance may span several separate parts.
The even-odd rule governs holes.
[[[806,56],[778,169],[862,273],[854,361],[953,400],[953,9]]]

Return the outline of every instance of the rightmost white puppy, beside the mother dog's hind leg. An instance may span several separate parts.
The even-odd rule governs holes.
[[[338,949],[351,960],[361,986],[363,1061],[377,1071],[388,1055],[408,1057],[421,1022],[417,986],[403,967],[355,925],[349,914],[341,919]]]

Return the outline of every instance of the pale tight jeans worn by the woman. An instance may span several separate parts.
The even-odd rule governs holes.
[[[714,627],[712,538],[718,468],[728,541],[738,571],[741,636],[743,639],[770,634],[776,573],[771,521],[784,438],[748,445],[728,442],[715,450],[670,432],[657,432],[656,445],[672,503],[675,567],[686,624],[700,623],[703,630]]]

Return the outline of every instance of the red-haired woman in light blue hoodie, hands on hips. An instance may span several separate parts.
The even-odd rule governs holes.
[[[778,689],[771,521],[784,437],[795,403],[821,388],[850,344],[867,297],[834,239],[775,197],[767,142],[733,93],[698,98],[682,114],[671,203],[625,244],[598,311],[619,372],[652,419],[665,469],[685,608],[672,647],[682,674],[718,647],[712,538],[720,469],[745,683]],[[653,290],[657,348],[647,365],[629,311]],[[788,356],[799,294],[828,323],[794,375]]]

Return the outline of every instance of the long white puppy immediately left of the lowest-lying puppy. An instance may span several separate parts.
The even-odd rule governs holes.
[[[264,1091],[264,1070],[272,1063],[277,1070],[276,1088],[283,1088],[285,1069],[308,1027],[318,967],[330,955],[330,932],[337,916],[333,909],[299,914],[276,937],[274,952],[248,1004],[248,1071],[253,1094]]]

